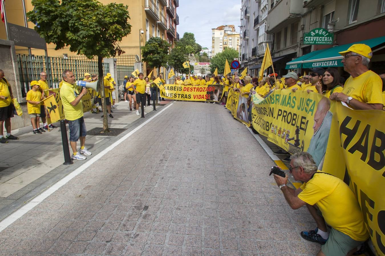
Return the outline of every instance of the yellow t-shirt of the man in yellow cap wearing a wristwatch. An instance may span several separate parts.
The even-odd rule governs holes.
[[[360,74],[356,78],[350,76],[343,86],[344,94],[358,101],[369,104],[383,104],[382,81],[378,74],[371,70]],[[352,106],[350,106],[352,107]],[[353,108],[353,107],[352,107]]]

